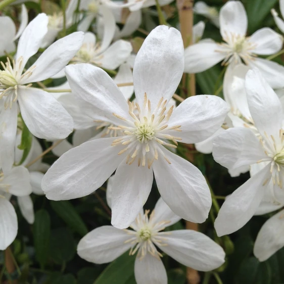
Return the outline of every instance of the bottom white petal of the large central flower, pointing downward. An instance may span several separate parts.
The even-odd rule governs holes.
[[[122,161],[112,185],[112,225],[127,228],[135,220],[146,203],[153,183],[153,170],[147,166],[131,165]]]

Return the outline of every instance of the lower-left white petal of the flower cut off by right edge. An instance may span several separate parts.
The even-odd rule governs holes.
[[[269,169],[267,165],[225,200],[214,224],[218,236],[239,230],[251,219],[271,177]]]

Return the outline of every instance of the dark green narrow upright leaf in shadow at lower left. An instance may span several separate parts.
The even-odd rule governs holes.
[[[36,259],[44,268],[48,261],[50,252],[51,220],[46,210],[39,210],[35,213],[33,224],[33,238]]]

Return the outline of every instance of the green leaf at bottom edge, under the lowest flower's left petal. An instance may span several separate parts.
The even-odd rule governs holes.
[[[136,256],[129,256],[128,252],[113,261],[94,282],[94,284],[130,284],[134,275],[134,261]]]

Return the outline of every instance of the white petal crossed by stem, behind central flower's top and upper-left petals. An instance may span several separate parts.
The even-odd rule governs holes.
[[[128,63],[121,64],[113,80],[116,84],[133,83],[133,75],[130,65]],[[125,100],[129,100],[132,97],[134,91],[133,86],[119,87],[119,89],[123,93]]]

